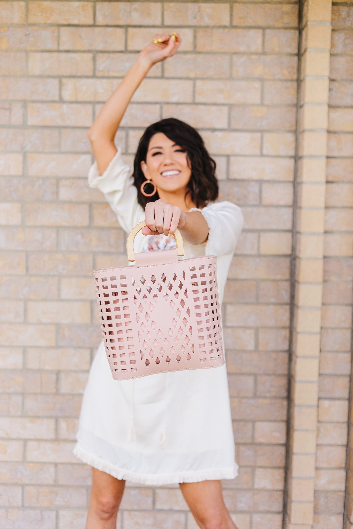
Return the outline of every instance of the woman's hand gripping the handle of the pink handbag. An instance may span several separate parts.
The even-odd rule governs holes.
[[[175,230],[185,224],[185,213],[182,208],[167,204],[161,199],[146,204],[144,217],[146,226],[142,228],[143,235],[159,233],[174,235]]]

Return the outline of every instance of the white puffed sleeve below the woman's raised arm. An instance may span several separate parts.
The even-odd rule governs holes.
[[[133,185],[131,172],[130,166],[122,158],[121,147],[117,147],[117,152],[103,175],[99,175],[96,160],[88,171],[88,186],[96,187],[104,193],[126,233],[130,233],[144,218],[144,210],[137,201],[137,189]]]

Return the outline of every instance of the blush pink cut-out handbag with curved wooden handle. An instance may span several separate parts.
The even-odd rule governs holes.
[[[105,352],[114,380],[224,364],[216,256],[178,260],[176,248],[133,250],[142,221],[126,241],[134,265],[94,270]]]

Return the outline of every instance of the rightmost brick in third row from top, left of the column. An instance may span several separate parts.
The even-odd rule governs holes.
[[[297,58],[289,55],[233,55],[232,76],[294,80],[297,77]]]

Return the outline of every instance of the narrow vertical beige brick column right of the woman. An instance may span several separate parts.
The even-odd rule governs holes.
[[[314,514],[331,0],[304,2],[301,26],[287,529],[311,529]]]

